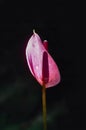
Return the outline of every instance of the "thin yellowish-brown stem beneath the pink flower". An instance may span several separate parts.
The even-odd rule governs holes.
[[[43,104],[43,123],[44,130],[47,130],[47,116],[46,116],[46,88],[42,86],[42,104]]]

